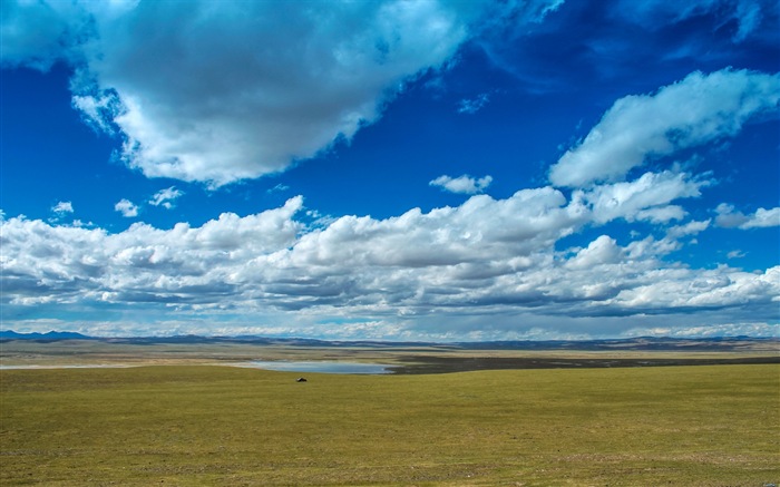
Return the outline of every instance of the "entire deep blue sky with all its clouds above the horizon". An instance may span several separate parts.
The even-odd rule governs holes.
[[[1,6],[1,329],[780,334],[773,0]]]

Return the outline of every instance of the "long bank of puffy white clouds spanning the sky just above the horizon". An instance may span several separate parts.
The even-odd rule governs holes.
[[[349,320],[343,330],[377,338],[447,339],[436,318],[454,339],[478,330],[484,338],[533,333],[517,320],[553,325],[553,316],[574,334],[587,334],[582,323],[598,316],[624,316],[623,329],[614,324],[624,331],[643,315],[694,310],[754,323],[772,319],[780,295],[780,267],[754,274],[664,261],[677,238],[709,222],[680,225],[660,241],[622,246],[602,235],[584,249],[557,250],[593,213],[550,187],[386,220],[343,216],[320,227],[301,223],[302,210],[295,197],[201,227],[138,223],[116,234],[4,220],[3,309],[166,306],[183,321],[254,315],[267,323],[254,329],[279,331],[283,320],[299,334],[318,334],[323,322],[331,325],[321,331],[338,334]],[[475,312],[479,323],[469,318]]]

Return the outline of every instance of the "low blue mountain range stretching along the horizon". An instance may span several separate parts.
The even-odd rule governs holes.
[[[757,344],[778,344],[780,338],[752,337],[718,337],[701,339],[680,339],[667,337],[637,337],[630,339],[608,340],[539,340],[539,341],[490,341],[490,342],[386,342],[386,341],[326,341],[300,338],[266,338],[256,335],[238,337],[129,337],[104,338],[88,337],[70,331],[49,331],[47,333],[18,333],[12,330],[0,331],[0,342],[11,340],[33,340],[53,342],[61,340],[98,340],[107,343],[154,344],[154,343],[245,343],[257,345],[293,345],[293,347],[344,347],[344,348],[409,348],[435,347],[468,350],[578,350],[578,351],[616,351],[616,350],[744,350]]]

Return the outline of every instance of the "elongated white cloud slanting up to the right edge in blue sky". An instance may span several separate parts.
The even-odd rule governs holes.
[[[653,95],[615,101],[576,147],[550,167],[557,186],[622,179],[651,157],[734,136],[759,114],[777,111],[780,74],[693,72]]]

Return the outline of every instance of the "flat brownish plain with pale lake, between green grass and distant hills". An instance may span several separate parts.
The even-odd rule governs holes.
[[[324,343],[324,342],[323,342]],[[526,347],[528,343],[525,344]],[[431,344],[301,345],[204,339],[10,340],[0,342],[0,367],[242,364],[254,360],[386,363],[392,372],[442,373],[500,369],[615,368],[780,363],[780,341],[562,342],[546,349],[468,348]],[[582,348],[578,348],[582,347]]]

